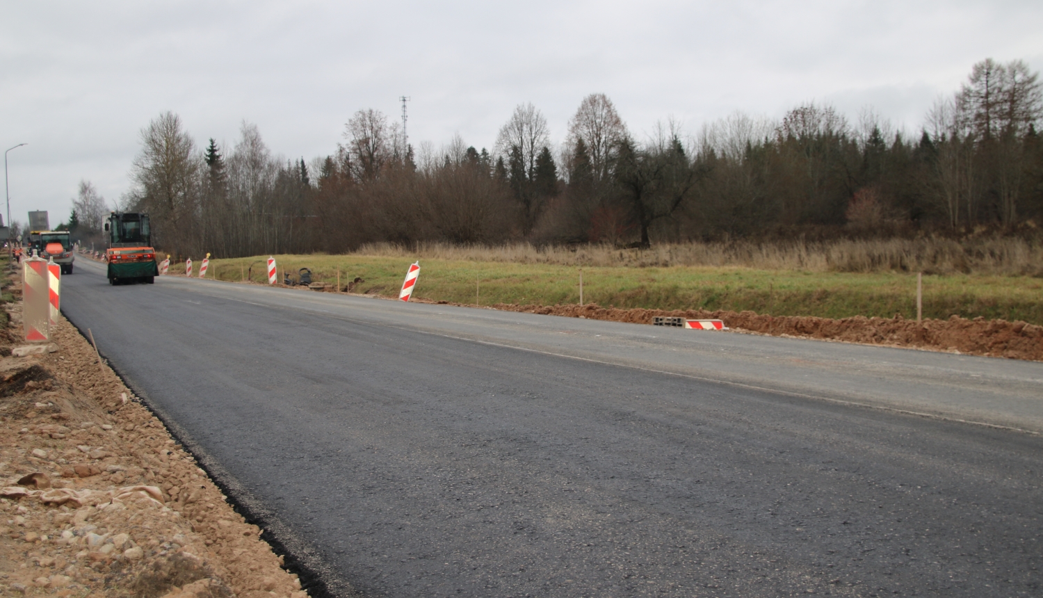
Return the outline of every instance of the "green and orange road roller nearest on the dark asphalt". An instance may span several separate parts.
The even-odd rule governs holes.
[[[105,233],[108,284],[134,281],[154,283],[160,268],[155,263],[155,249],[151,247],[148,214],[111,212]]]

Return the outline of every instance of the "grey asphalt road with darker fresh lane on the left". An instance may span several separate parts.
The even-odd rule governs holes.
[[[76,265],[317,592],[1043,596],[1043,364]]]

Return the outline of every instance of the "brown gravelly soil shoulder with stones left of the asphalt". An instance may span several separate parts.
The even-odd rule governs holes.
[[[20,296],[20,283],[13,290]],[[65,318],[0,330],[0,595],[305,598],[164,425]]]

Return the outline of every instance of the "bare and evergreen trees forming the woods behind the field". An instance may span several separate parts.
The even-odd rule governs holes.
[[[1041,117],[1038,73],[991,58],[915,136],[872,112],[852,123],[807,103],[779,121],[736,113],[695,135],[668,121],[637,139],[607,96],[591,94],[560,145],[530,103],[491,151],[459,136],[414,148],[397,122],[360,110],[336,151],[306,163],[272,154],[246,122],[231,148],[200,148],[168,112],[142,129],[120,208],[151,215],[156,247],[215,257],[373,242],[1030,233],[1043,223]],[[104,199],[83,182],[73,204],[74,234],[99,237]]]

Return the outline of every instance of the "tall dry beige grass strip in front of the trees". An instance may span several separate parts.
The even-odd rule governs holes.
[[[575,266],[738,266],[762,270],[841,272],[923,271],[1043,277],[1043,244],[1019,238],[658,244],[621,249],[608,244],[499,246],[417,243],[364,245],[355,255]]]

